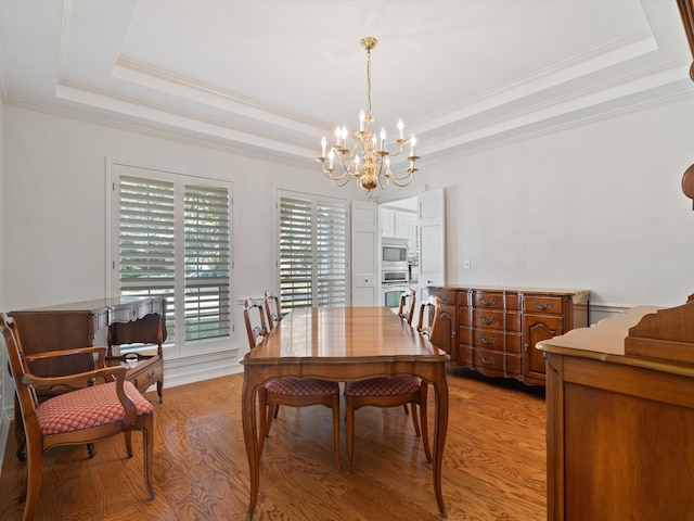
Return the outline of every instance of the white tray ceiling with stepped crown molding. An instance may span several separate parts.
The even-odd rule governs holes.
[[[373,114],[424,161],[693,96],[674,1],[0,2],[0,86],[29,104],[316,167]]]

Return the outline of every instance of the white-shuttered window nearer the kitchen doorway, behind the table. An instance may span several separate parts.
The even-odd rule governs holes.
[[[278,191],[282,308],[347,304],[347,202]]]

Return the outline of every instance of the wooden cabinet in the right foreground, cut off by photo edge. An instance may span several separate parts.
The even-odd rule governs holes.
[[[694,302],[540,342],[548,520],[694,519]]]

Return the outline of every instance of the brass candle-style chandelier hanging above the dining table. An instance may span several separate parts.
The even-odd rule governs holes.
[[[414,135],[408,141],[404,139],[404,125],[402,119],[398,120],[398,138],[395,144],[398,151],[395,153],[386,149],[386,130],[381,128],[380,138],[371,131],[374,117],[371,114],[371,50],[376,47],[378,40],[370,36],[363,38],[360,43],[367,50],[367,112],[363,109],[359,113],[359,131],[354,136],[357,142],[350,150],[347,143],[347,127],[343,125],[335,129],[335,144],[330,149],[327,155],[327,140],[325,136],[321,139],[322,153],[317,157],[325,177],[337,187],[344,187],[349,179],[355,179],[359,188],[367,190],[371,198],[371,190],[376,187],[385,189],[390,182],[397,187],[407,187],[412,182],[413,174],[417,170],[414,162],[420,157],[415,155],[414,145],[416,140]],[[402,152],[402,147],[410,143],[410,155],[408,155],[409,166],[401,175],[397,176],[390,170],[390,157],[395,157]],[[337,171],[335,166],[339,167]]]

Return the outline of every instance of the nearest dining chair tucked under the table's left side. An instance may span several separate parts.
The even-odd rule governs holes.
[[[265,303],[266,301],[246,298],[243,304],[246,333],[252,350],[256,348],[270,332],[266,325]],[[262,454],[265,439],[270,433],[272,418],[277,416],[277,409],[280,405],[290,407],[323,405],[333,410],[333,452],[335,466],[338,471],[342,469],[339,462],[339,384],[337,382],[290,378],[271,380],[258,393],[258,402],[260,409],[258,454]]]

